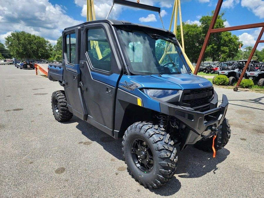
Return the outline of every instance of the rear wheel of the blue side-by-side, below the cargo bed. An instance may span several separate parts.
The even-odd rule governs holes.
[[[56,91],[51,96],[51,106],[55,119],[59,122],[68,121],[73,114],[67,107],[67,100],[64,91]]]

